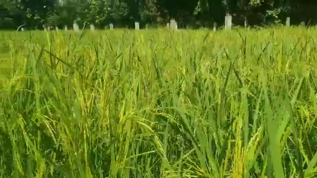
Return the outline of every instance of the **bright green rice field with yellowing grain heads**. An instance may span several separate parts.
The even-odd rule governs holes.
[[[0,38],[1,178],[317,176],[315,28]]]

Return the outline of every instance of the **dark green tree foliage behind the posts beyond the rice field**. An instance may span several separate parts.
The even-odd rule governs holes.
[[[55,2],[56,1],[56,2]],[[317,22],[316,0],[0,0],[0,27],[29,29],[94,23],[104,28],[133,27],[135,21],[145,25],[163,25],[175,18],[179,27],[221,25],[224,15],[233,15],[235,25]]]

